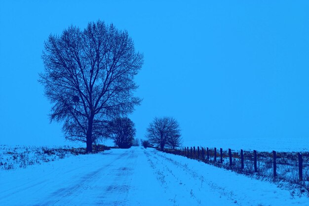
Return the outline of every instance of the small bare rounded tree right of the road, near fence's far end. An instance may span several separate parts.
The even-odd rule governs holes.
[[[180,139],[180,126],[178,122],[171,117],[154,118],[154,121],[150,123],[147,128],[146,136],[150,143],[157,145],[163,150],[165,145],[169,145],[173,142],[172,139]],[[173,145],[174,147],[177,146],[177,144],[174,143]]]

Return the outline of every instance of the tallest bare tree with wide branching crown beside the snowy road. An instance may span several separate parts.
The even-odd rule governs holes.
[[[61,36],[50,35],[42,53],[44,73],[39,82],[52,104],[50,120],[64,121],[65,137],[92,143],[105,135],[107,123],[126,115],[141,100],[133,95],[143,64],[126,31],[102,21],[83,31],[71,26]]]

